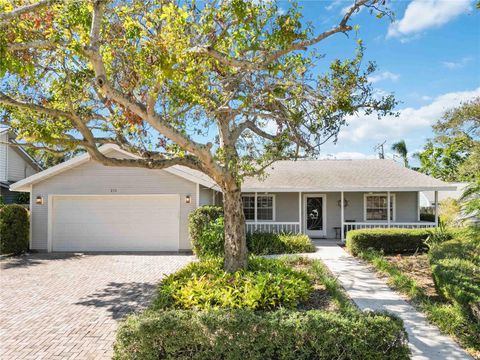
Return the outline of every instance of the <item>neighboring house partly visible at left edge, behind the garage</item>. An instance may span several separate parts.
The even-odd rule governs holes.
[[[0,128],[0,195],[5,204],[15,203],[19,194],[10,191],[11,184],[42,170],[22,147],[8,145],[14,139],[8,128]]]

